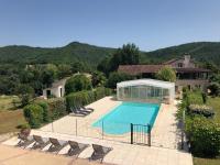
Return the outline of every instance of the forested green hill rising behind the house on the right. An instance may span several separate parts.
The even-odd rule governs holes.
[[[189,53],[198,62],[220,64],[220,42],[197,42],[156,50],[142,54],[143,63],[161,63]]]

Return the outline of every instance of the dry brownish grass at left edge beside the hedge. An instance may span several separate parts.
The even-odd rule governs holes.
[[[0,96],[0,134],[16,132],[20,124],[25,123],[23,111],[16,109],[13,100],[19,100],[15,96]]]

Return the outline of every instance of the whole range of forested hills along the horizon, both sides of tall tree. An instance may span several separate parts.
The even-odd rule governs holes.
[[[73,63],[82,61],[96,66],[106,56],[110,56],[116,50],[99,47],[89,44],[73,42],[63,47],[43,48],[30,46],[4,46],[0,47],[0,63]],[[141,52],[141,63],[162,63],[170,58],[177,58],[189,53],[199,62],[209,61],[220,65],[219,42],[197,42],[178,46]]]

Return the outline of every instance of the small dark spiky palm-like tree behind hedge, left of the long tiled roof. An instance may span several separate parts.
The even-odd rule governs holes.
[[[92,73],[92,76],[91,76],[92,87],[103,86],[106,81],[107,81],[107,78],[105,77],[103,73],[100,73],[100,72]]]

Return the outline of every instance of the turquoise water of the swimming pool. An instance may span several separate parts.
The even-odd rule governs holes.
[[[140,102],[122,102],[120,106],[111,110],[109,113],[96,121],[92,127],[103,128],[103,132],[108,134],[123,134],[131,131],[131,123],[153,127],[158,113],[160,105],[140,103]],[[147,132],[135,129],[135,132]]]

